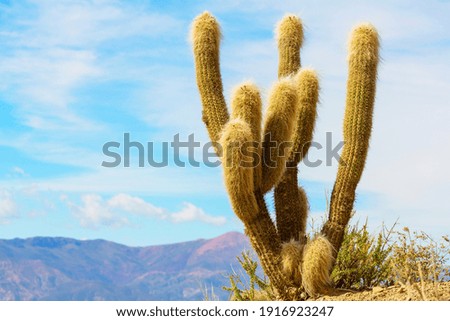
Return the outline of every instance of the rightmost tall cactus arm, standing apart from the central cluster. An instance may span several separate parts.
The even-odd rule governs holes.
[[[330,212],[323,227],[337,255],[364,169],[372,130],[377,80],[379,39],[369,24],[356,27],[349,48],[347,99],[344,115],[344,150],[330,201]]]

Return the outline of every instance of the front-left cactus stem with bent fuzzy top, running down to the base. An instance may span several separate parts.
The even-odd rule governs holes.
[[[245,159],[245,148],[252,142],[250,126],[241,119],[230,120],[224,128],[224,180],[234,212],[244,223],[245,232],[260,259],[270,283],[286,298],[289,286],[280,261],[281,241],[260,191],[254,191],[253,165]]]

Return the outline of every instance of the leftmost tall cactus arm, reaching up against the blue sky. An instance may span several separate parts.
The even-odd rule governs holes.
[[[197,16],[191,29],[197,86],[203,105],[203,122],[211,141],[218,142],[228,121],[219,64],[220,26],[208,12]]]

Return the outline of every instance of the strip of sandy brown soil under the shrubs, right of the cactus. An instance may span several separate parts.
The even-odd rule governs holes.
[[[333,290],[316,301],[450,301],[450,282],[374,287],[366,291]]]

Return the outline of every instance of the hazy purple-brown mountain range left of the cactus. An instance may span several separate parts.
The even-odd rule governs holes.
[[[0,240],[0,300],[201,300],[202,287],[220,299],[245,235],[128,247],[61,237]]]

